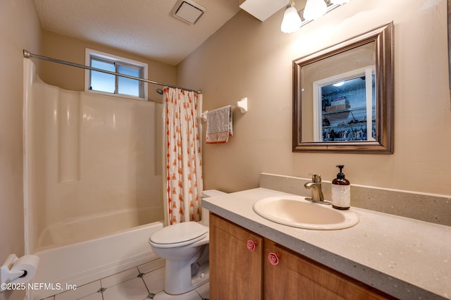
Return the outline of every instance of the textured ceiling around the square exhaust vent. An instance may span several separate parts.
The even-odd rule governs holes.
[[[42,29],[177,65],[239,11],[237,0],[195,0],[194,25],[173,17],[178,0],[35,0]]]

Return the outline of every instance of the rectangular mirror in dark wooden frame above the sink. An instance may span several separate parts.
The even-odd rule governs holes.
[[[393,23],[293,61],[294,152],[393,154]]]

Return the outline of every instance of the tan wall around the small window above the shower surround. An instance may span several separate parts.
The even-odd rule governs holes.
[[[147,63],[149,65],[149,80],[175,85],[175,66],[152,61],[149,58],[136,56],[101,44],[73,39],[53,32],[43,32],[42,56],[85,65],[86,48]],[[42,61],[42,70],[39,75],[49,85],[75,91],[85,90],[85,70],[81,68]],[[155,92],[155,89],[158,88],[162,87],[159,85],[149,85],[149,101],[161,103],[161,95]]]

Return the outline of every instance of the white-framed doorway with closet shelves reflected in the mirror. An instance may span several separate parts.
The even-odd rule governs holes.
[[[313,83],[314,142],[376,141],[374,66]]]

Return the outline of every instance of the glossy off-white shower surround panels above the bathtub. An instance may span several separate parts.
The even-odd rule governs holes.
[[[23,63],[25,254],[163,220],[161,104],[47,85]]]

